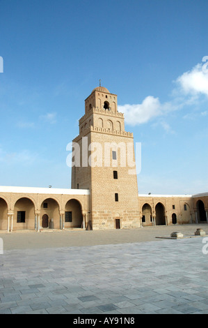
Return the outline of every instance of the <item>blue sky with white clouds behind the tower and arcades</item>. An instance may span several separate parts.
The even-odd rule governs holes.
[[[208,191],[207,10],[207,0],[0,0],[1,186],[70,187],[66,147],[101,79],[142,143],[139,193]]]

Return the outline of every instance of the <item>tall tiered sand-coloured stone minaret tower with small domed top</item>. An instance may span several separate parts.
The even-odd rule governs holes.
[[[101,86],[92,91],[73,143],[80,165],[72,167],[72,188],[90,189],[93,230],[140,227],[137,177],[129,174],[136,168],[129,167],[134,137],[125,131],[115,94]]]

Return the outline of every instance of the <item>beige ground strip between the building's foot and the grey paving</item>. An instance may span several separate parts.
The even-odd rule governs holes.
[[[160,241],[157,237],[170,237],[172,232],[181,232],[184,236],[193,236],[198,228],[208,234],[207,223],[186,225],[156,225],[137,229],[112,230],[16,230],[13,233],[0,232],[3,247],[13,249],[42,249],[71,246],[95,246],[106,244],[127,244],[144,241]],[[197,236],[198,238],[199,236]],[[61,260],[61,259],[60,259]],[[45,264],[42,264],[45,267]],[[14,267],[15,269],[15,267]],[[48,269],[45,267],[45,269]],[[32,271],[34,269],[31,269]]]

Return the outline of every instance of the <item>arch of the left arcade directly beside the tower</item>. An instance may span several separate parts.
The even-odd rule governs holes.
[[[82,205],[72,198],[65,204],[65,228],[81,228],[83,223]]]

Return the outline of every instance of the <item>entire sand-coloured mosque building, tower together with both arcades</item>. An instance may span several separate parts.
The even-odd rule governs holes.
[[[208,223],[208,193],[138,195],[133,133],[117,95],[96,87],[72,142],[72,188],[0,186],[0,230],[134,229]]]

